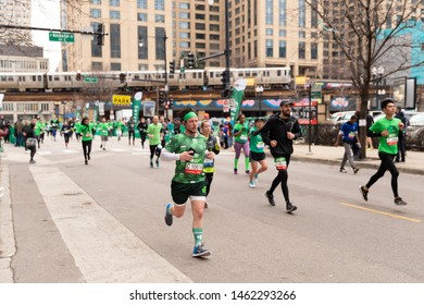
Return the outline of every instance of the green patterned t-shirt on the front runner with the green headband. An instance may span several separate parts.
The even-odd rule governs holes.
[[[179,183],[196,183],[204,181],[203,163],[207,151],[207,138],[200,134],[188,136],[177,134],[166,144],[166,150],[175,154],[188,151],[189,148],[195,150],[194,158],[188,161],[176,161],[175,174],[173,181]]]

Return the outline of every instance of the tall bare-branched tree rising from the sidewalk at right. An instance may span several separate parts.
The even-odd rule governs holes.
[[[359,91],[361,118],[367,111],[372,87],[372,69],[386,64],[379,80],[399,71],[423,66],[424,61],[412,62],[421,42],[410,39],[419,30],[423,15],[422,1],[416,0],[305,0],[317,13],[324,40],[335,44],[346,59],[350,78]],[[335,5],[337,4],[337,5]],[[360,126],[361,155],[366,157],[365,126]]]

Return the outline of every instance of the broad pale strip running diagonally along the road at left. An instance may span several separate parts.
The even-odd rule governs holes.
[[[29,170],[87,282],[191,282],[59,168],[37,166]]]

